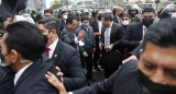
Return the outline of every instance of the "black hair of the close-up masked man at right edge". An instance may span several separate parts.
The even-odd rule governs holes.
[[[161,47],[176,46],[176,19],[164,19],[151,25],[144,37],[144,49],[146,43],[153,43]]]

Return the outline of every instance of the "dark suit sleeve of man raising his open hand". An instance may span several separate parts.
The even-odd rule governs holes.
[[[74,46],[74,45],[76,44],[76,43],[75,43],[75,38],[70,38],[67,33],[63,33],[63,34],[62,34],[62,40],[63,40],[64,43],[67,43],[67,44],[72,45],[72,46]]]

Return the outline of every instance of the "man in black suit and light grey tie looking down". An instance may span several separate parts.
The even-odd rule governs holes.
[[[102,31],[99,47],[102,50],[102,56],[107,57],[107,52],[111,50],[121,51],[120,39],[123,36],[123,26],[112,22],[112,16],[109,13],[102,14]],[[112,56],[113,57],[113,56]],[[120,62],[105,63],[105,75],[108,78],[120,66]]]

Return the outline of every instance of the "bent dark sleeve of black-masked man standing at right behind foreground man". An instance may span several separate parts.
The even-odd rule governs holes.
[[[135,48],[140,45],[140,40],[130,40],[131,33],[134,31],[132,26],[129,26],[124,33],[124,36],[122,37],[122,46],[127,48]]]

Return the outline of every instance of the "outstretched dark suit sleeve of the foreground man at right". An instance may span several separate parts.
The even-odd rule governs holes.
[[[117,78],[123,77],[123,69],[130,67],[130,61],[123,64],[118,71],[116,71],[110,78],[92,84],[90,86],[85,86],[80,90],[73,91],[74,94],[112,94],[113,85]]]

